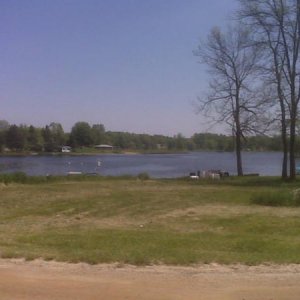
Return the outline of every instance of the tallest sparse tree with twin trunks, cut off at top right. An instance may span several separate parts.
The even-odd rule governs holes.
[[[263,75],[275,87],[283,144],[282,177],[296,177],[296,124],[300,100],[300,0],[239,0],[239,17],[264,48]]]

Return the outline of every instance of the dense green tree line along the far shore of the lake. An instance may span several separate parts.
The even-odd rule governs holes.
[[[195,133],[186,138],[182,134],[173,137],[106,131],[103,124],[90,125],[77,122],[70,132],[60,123],[52,122],[45,127],[15,125],[0,121],[1,152],[60,152],[62,146],[76,149],[111,145],[115,150],[131,151],[234,151],[232,136],[213,133]],[[282,151],[280,136],[256,135],[246,138],[246,151]]]

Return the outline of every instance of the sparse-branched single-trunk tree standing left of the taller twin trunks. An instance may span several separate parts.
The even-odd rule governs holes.
[[[226,33],[213,28],[195,51],[211,74],[209,92],[198,98],[199,110],[233,131],[237,173],[243,175],[242,140],[259,122],[262,102],[254,90],[259,47],[250,45],[249,31],[239,24]]]

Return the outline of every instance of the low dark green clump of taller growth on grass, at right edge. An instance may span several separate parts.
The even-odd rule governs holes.
[[[251,203],[265,206],[300,206],[300,190],[255,193],[251,197]]]

